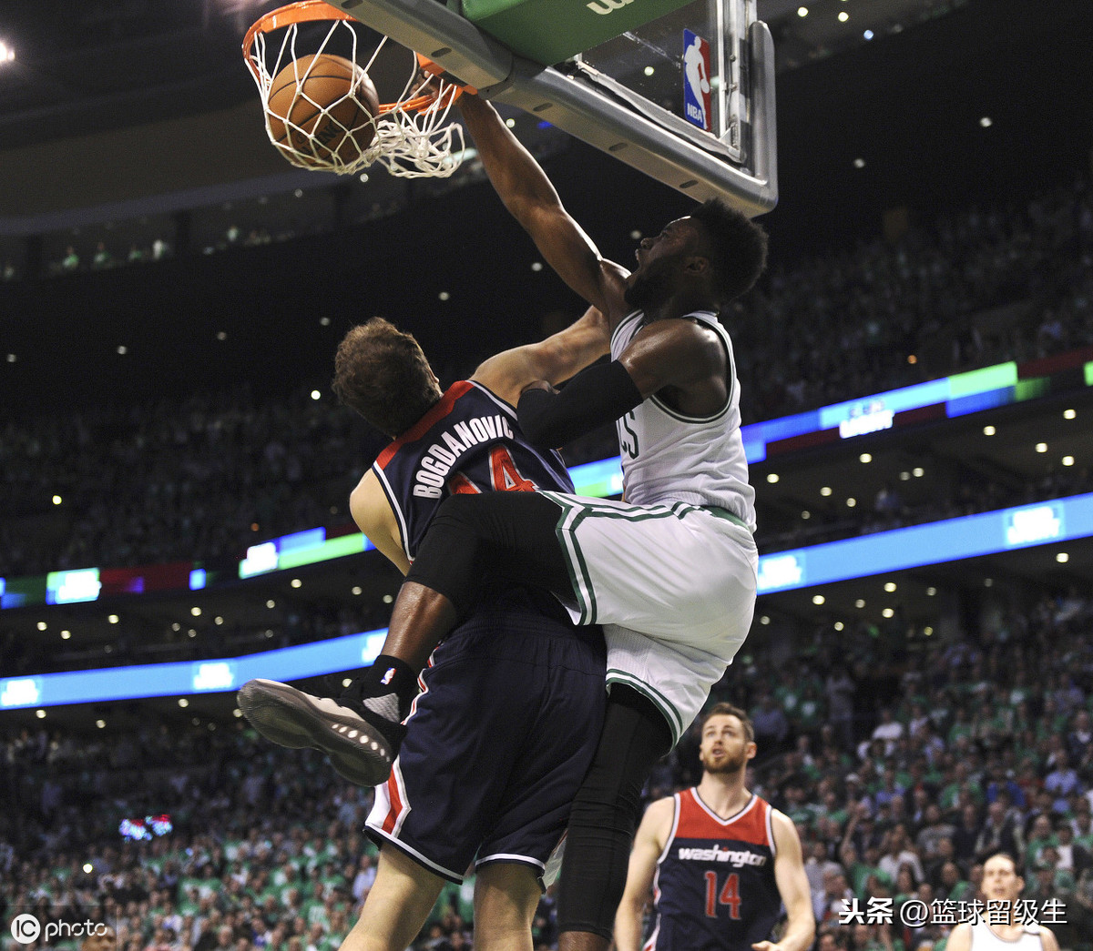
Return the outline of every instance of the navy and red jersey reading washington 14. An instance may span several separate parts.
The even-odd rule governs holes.
[[[721,819],[697,788],[677,793],[653,891],[656,927],[645,951],[750,951],[781,915],[771,806],[759,796]]]

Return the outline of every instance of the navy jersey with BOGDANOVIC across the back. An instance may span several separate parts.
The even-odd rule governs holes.
[[[390,502],[412,561],[436,510],[456,492],[572,492],[553,450],[531,445],[516,411],[485,387],[453,383],[439,402],[388,445],[373,469]]]

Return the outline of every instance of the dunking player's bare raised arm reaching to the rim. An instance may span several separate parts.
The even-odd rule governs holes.
[[[550,179],[487,102],[465,93],[459,107],[479,158],[505,207],[531,236],[546,263],[611,326],[628,312],[623,299],[627,271],[606,261],[569,216]]]

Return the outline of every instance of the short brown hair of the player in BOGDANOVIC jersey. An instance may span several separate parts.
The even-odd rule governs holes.
[[[380,432],[406,432],[440,399],[413,334],[381,317],[357,324],[339,344],[332,389]]]

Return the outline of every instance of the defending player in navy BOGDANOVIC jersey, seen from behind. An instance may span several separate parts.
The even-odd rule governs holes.
[[[404,573],[449,491],[571,487],[561,457],[522,439],[510,403],[529,379],[562,379],[599,356],[606,341],[602,319],[590,311],[548,341],[486,360],[442,393],[410,334],[379,319],[352,329],[338,349],[334,390],[397,437],[351,496],[361,530]],[[344,951],[402,951],[444,880],[461,881],[472,860],[475,948],[530,951],[539,877],[602,722],[603,676],[599,629],[574,627],[542,592],[486,593],[433,653],[400,756],[376,789],[367,831],[380,844],[379,866]],[[240,708],[270,739],[312,745],[277,716],[280,691],[298,693],[251,681]],[[334,737],[318,745],[343,776],[361,782],[352,756],[359,734],[345,727]]]

